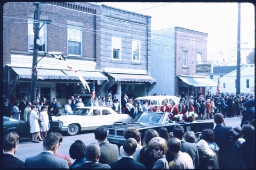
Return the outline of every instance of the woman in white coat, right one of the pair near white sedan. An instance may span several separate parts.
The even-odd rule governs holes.
[[[46,137],[47,131],[49,131],[49,117],[45,106],[41,107],[39,116],[42,119],[42,123],[40,124],[41,137],[44,139]]]

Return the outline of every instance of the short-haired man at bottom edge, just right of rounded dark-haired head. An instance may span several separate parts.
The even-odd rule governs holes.
[[[82,169],[110,169],[108,164],[99,163],[100,147],[97,143],[91,143],[85,148],[86,161],[82,165],[75,165],[73,168]]]

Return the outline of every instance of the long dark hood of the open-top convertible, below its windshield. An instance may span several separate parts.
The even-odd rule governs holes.
[[[159,126],[160,124],[148,123],[148,122],[132,122],[132,123],[115,123],[103,125],[104,128],[115,128],[115,129],[123,129],[133,127],[137,129],[147,128],[148,126]]]

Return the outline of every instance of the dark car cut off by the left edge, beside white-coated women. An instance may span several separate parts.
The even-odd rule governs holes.
[[[4,135],[7,133],[17,133],[20,138],[30,138],[29,122],[4,116]]]

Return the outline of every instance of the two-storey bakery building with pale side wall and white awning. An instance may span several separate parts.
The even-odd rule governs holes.
[[[199,96],[206,84],[217,86],[206,73],[196,73],[196,64],[207,63],[207,36],[180,27],[151,32],[151,75],[157,78],[151,94]]]

